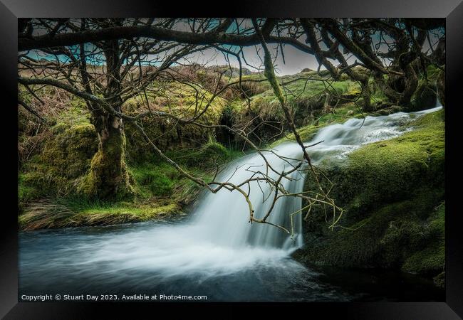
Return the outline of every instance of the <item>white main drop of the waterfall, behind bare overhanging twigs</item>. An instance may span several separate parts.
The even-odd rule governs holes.
[[[298,144],[282,144],[274,149],[276,154],[291,159],[301,159],[301,147]],[[288,171],[290,164],[279,156],[270,152],[263,152],[267,161],[276,171]],[[295,162],[295,161],[293,161]],[[220,175],[218,181],[229,181],[231,183],[241,183],[251,178],[255,171],[266,171],[264,159],[259,154],[244,156],[243,159],[229,165],[224,173]],[[277,178],[277,174],[269,171],[271,178]],[[298,193],[303,188],[304,175],[295,171],[290,179],[283,178],[281,184],[290,193]],[[269,183],[261,181],[251,181],[249,183],[251,192],[249,200],[254,208],[254,216],[263,218],[271,207],[273,201],[273,190]],[[244,187],[245,191],[249,191]],[[276,201],[276,204],[269,217],[269,222],[276,225],[283,225],[291,230],[289,215],[301,208],[301,198],[283,197]],[[249,208],[244,196],[238,191],[228,191],[222,189],[215,194],[208,194],[195,209],[197,218],[193,221],[194,225],[202,226],[202,233],[209,237],[209,240],[221,245],[242,247],[244,245],[254,245],[258,247],[283,247],[288,249],[294,245],[302,245],[301,217],[296,215],[293,222],[295,230],[294,241],[284,233],[283,230],[268,224],[248,223]]]

